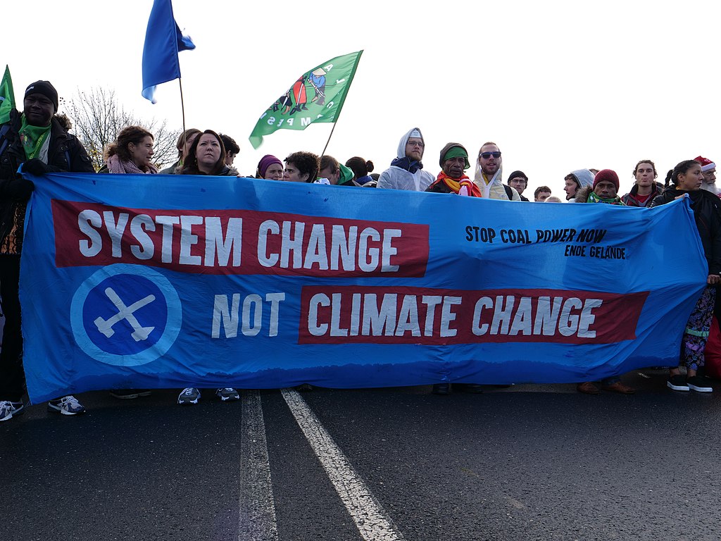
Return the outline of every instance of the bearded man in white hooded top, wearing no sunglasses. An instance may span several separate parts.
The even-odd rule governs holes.
[[[423,170],[425,141],[419,128],[408,131],[398,144],[397,158],[391,167],[381,173],[377,188],[423,192],[435,180],[432,173]]]

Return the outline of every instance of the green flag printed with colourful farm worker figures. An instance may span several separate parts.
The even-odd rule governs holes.
[[[335,122],[353,81],[362,50],[337,56],[306,71],[258,119],[250,144],[257,149],[275,130],[304,130],[314,122]]]

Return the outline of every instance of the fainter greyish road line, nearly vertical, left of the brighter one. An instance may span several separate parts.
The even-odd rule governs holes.
[[[278,541],[260,392],[242,395],[239,541]]]

